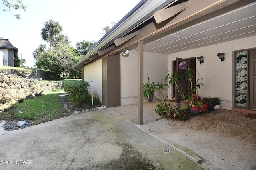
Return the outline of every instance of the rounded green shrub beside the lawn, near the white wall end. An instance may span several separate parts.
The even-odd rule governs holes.
[[[75,104],[85,101],[88,94],[88,82],[65,79],[62,81],[64,91],[68,94],[68,100]]]

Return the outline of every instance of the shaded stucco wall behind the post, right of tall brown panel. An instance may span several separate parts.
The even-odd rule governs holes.
[[[130,51],[129,56],[120,55],[121,68],[121,106],[138,103],[138,61],[137,51]],[[150,83],[161,81],[165,78],[164,70],[168,69],[168,55],[144,52],[143,79],[147,82],[147,74]],[[167,94],[167,90],[165,93]],[[144,102],[147,100],[144,99]]]

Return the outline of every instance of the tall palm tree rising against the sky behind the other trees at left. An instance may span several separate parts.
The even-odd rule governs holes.
[[[42,39],[50,42],[50,51],[52,49],[53,41],[58,41],[62,27],[58,21],[49,20],[44,23],[44,27],[41,30]]]

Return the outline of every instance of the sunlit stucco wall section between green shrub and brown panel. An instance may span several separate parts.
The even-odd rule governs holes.
[[[93,94],[99,96],[100,101],[102,101],[102,60],[101,59],[84,67],[84,81],[87,81],[90,83],[90,87],[89,87],[90,92],[91,92],[91,82],[92,82]]]

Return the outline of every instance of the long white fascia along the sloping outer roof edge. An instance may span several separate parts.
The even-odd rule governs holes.
[[[123,21],[116,29],[108,34],[104,39],[102,39],[99,43],[97,43],[80,61],[78,61],[73,68],[78,66],[82,61],[88,59],[90,56],[95,55],[100,47],[111,43],[114,39],[121,37],[130,29],[136,27],[136,25],[140,24],[142,21],[146,20],[152,14],[168,4],[172,3],[174,0],[144,0],[143,6],[141,8],[132,11],[132,14],[129,18]],[[142,1],[141,1],[142,2]]]

